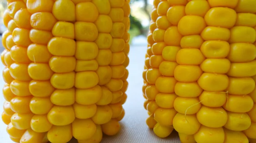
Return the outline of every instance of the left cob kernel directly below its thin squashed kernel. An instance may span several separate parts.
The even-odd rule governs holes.
[[[99,77],[94,71],[84,71],[76,73],[75,87],[80,89],[87,89],[98,84]]]

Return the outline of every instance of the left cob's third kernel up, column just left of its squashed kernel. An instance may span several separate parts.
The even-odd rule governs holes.
[[[75,103],[75,88],[67,90],[54,90],[50,100],[53,104],[59,106],[68,106]]]

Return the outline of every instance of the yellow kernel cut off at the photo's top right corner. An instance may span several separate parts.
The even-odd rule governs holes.
[[[239,0],[235,8],[236,12],[256,13],[256,2],[253,0]]]

